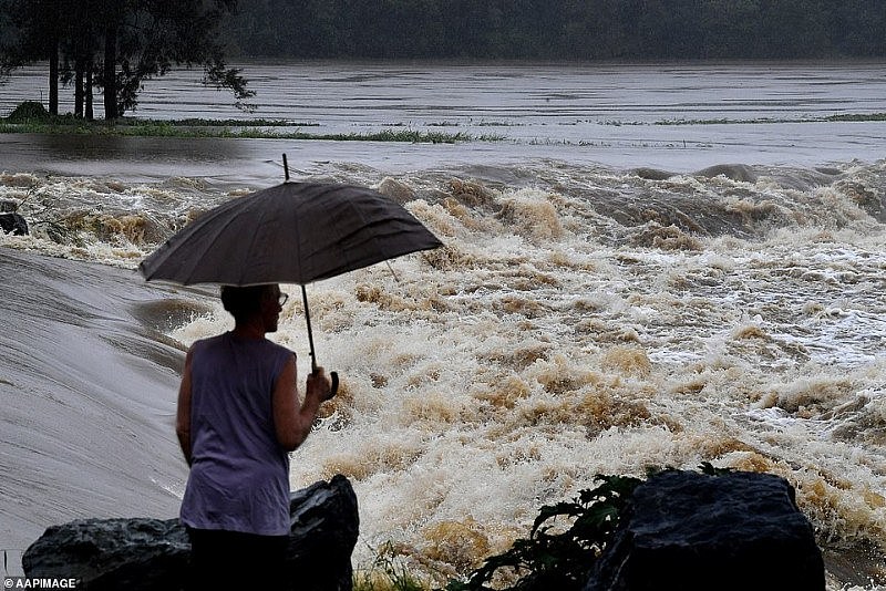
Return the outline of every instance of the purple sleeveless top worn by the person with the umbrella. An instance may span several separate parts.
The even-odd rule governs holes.
[[[193,463],[181,520],[198,529],[289,533],[289,455],[277,443],[274,383],[293,353],[227,332],[194,343]]]

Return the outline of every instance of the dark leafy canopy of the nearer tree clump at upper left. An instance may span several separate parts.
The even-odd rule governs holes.
[[[73,83],[75,114],[92,117],[92,90],[104,94],[105,118],[137,104],[144,81],[173,65],[204,68],[204,83],[253,95],[227,68],[218,38],[236,0],[0,0],[0,74],[49,62],[50,112],[58,85]],[[243,103],[238,103],[243,104]]]

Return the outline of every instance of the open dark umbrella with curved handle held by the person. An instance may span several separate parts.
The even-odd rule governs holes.
[[[395,201],[365,187],[286,182],[207,211],[140,265],[147,281],[301,286],[442,242]],[[337,375],[332,373],[333,388]],[[334,390],[333,390],[334,391]]]

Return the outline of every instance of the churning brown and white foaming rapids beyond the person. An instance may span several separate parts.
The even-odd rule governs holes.
[[[291,483],[351,478],[357,562],[393,542],[429,574],[465,572],[597,474],[702,462],[780,474],[823,545],[886,552],[886,166],[512,172],[349,178],[445,243],[308,287],[342,384]],[[8,176],[0,199],[51,222],[0,245],[134,267],[243,193]],[[230,326],[212,290],[181,298],[199,314],[173,317],[182,346]],[[303,379],[300,298],[274,339]]]

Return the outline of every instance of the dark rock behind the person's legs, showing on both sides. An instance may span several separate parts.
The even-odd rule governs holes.
[[[293,491],[287,570],[292,589],[350,591],[359,512],[334,476]],[[30,578],[74,578],[89,591],[183,589],[190,543],[178,519],[82,519],[47,529],[22,557]]]

